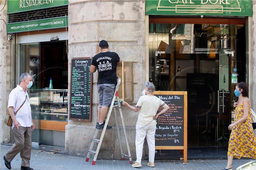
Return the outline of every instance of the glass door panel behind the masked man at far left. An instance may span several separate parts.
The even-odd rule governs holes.
[[[20,44],[18,53],[18,77],[24,73],[29,73],[33,78],[33,85],[28,89],[30,98],[31,114],[36,128],[32,131],[32,142],[40,144],[40,57],[39,43]]]

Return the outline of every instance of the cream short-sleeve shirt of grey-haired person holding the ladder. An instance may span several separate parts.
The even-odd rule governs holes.
[[[136,105],[136,109],[137,107],[140,107],[137,124],[142,126],[156,125],[156,120],[153,119],[153,116],[156,115],[158,108],[164,106],[165,104],[166,103],[164,103],[163,100],[156,96],[140,96],[140,99]]]

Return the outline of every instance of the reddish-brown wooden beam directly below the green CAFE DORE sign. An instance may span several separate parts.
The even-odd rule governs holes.
[[[245,18],[149,18],[149,23],[173,24],[242,24]]]

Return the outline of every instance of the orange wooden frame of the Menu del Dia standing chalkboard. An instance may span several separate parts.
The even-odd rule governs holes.
[[[184,162],[187,162],[188,154],[188,93],[181,91],[155,91],[154,95],[183,95],[184,96],[184,143],[183,146],[155,146],[156,149],[162,150],[183,150],[184,151]]]

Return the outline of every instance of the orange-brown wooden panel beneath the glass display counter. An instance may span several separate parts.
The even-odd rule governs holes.
[[[41,120],[41,129],[65,131],[68,122]]]

